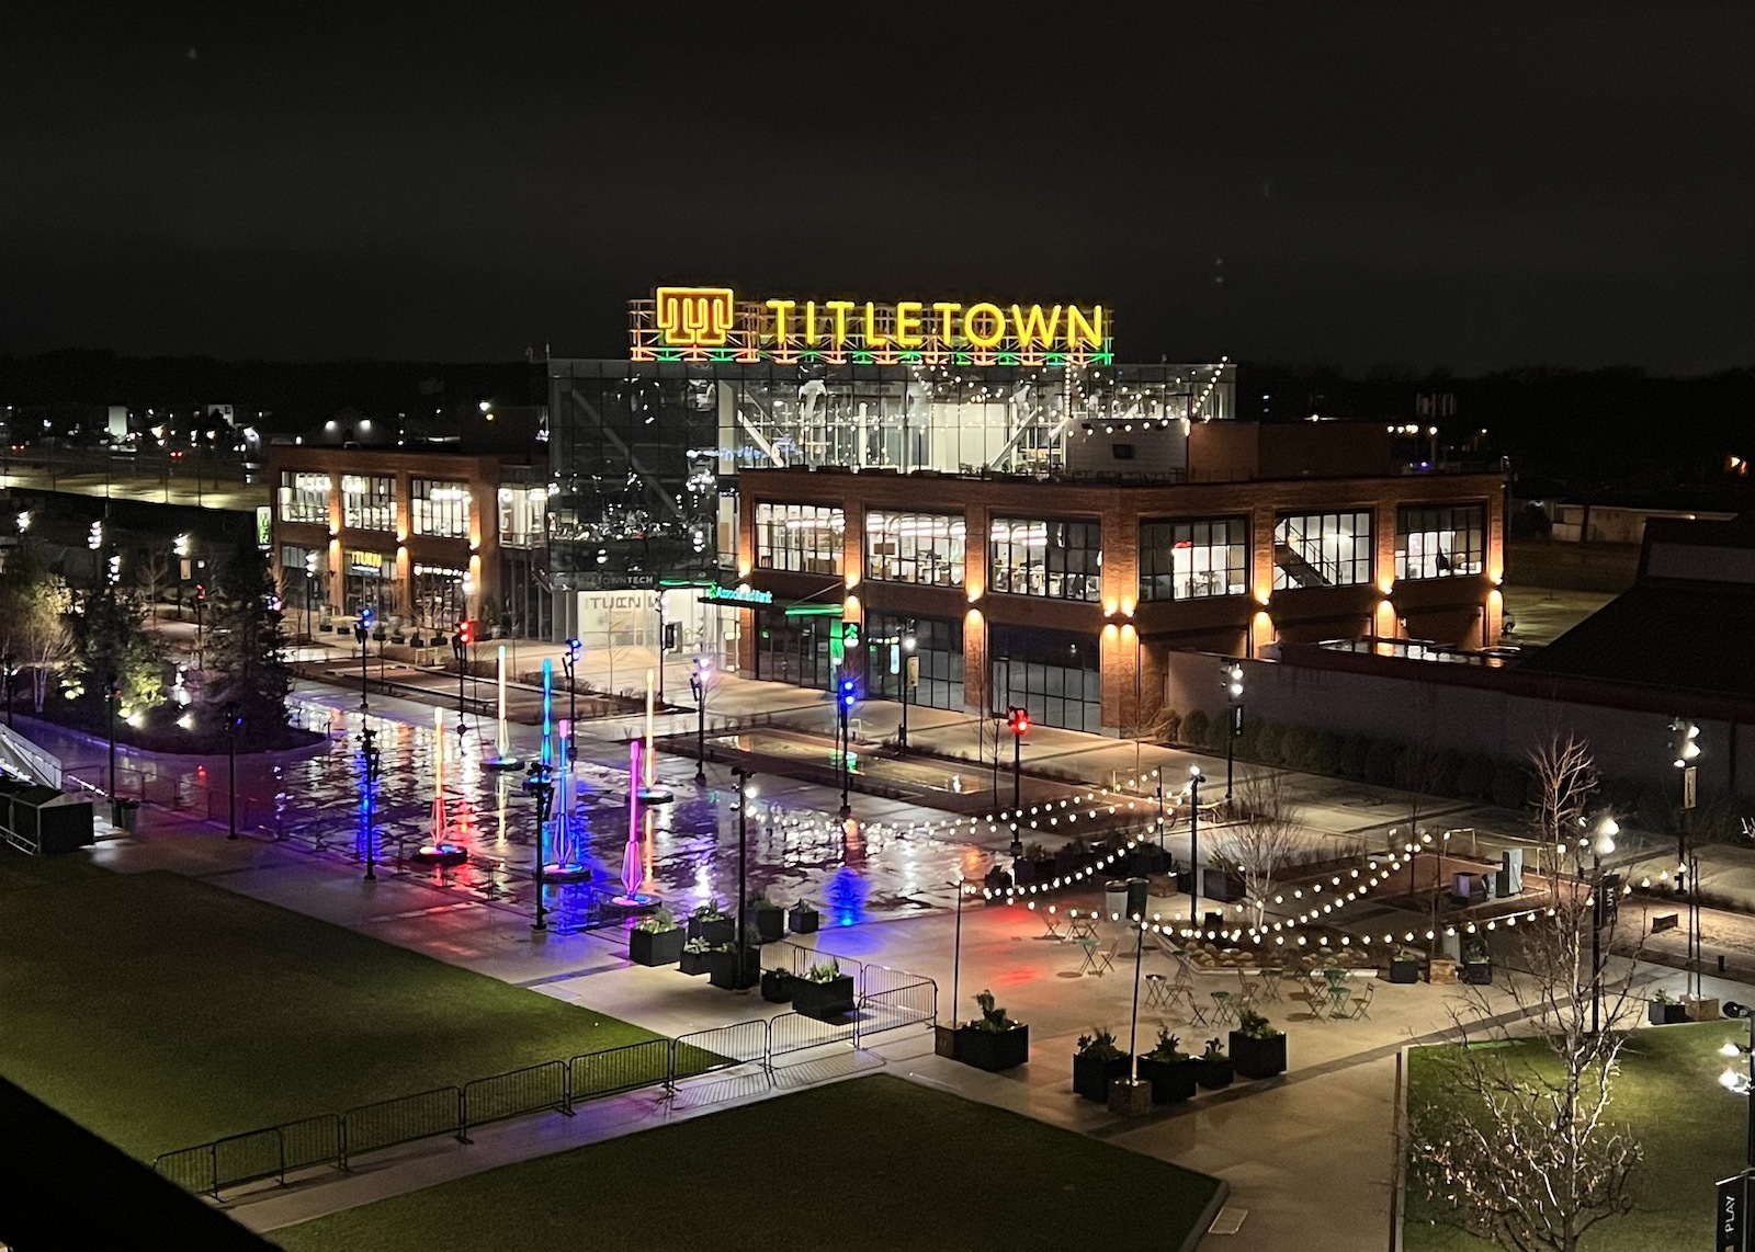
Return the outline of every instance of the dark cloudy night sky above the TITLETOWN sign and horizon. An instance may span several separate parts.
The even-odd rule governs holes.
[[[0,352],[621,356],[684,281],[1100,300],[1134,361],[1755,361],[1750,4],[453,12],[0,11]]]

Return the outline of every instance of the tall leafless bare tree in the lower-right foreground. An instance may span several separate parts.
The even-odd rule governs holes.
[[[1581,875],[1588,849],[1578,831],[1595,787],[1588,745],[1553,736],[1530,754],[1543,796],[1536,824],[1557,840],[1580,877],[1546,917],[1516,928],[1527,978],[1511,980],[1520,1014],[1490,1008],[1478,987],[1453,1012],[1460,1047],[1446,1047],[1436,1080],[1409,1098],[1409,1184],[1448,1220],[1516,1252],[1576,1252],[1597,1222],[1632,1208],[1629,1178],[1639,1142],[1609,1117],[1616,1057],[1637,1012],[1632,964],[1604,984],[1588,928],[1595,910]],[[1604,910],[1613,940],[1615,912]],[[1608,950],[1609,943],[1602,945]],[[1594,996],[1606,996],[1608,1029],[1592,1029]],[[1509,1022],[1532,1033],[1513,1038]],[[1479,1047],[1483,1043],[1497,1047]]]

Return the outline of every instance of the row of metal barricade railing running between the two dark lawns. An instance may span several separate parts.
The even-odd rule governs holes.
[[[797,949],[809,954],[811,949]],[[825,954],[816,954],[825,956]],[[356,1105],[344,1113],[319,1113],[281,1126],[228,1135],[211,1143],[161,1152],[153,1168],[186,1191],[218,1198],[226,1187],[332,1166],[347,1170],[369,1152],[442,1135],[469,1143],[469,1128],[541,1112],[572,1115],[581,1103],[646,1087],[667,1092],[677,1082],[741,1066],[772,1073],[774,1057],[862,1040],[909,1024],[937,1021],[937,984],[923,975],[839,957],[860,970],[860,1005],[844,1022],[821,1022],[795,1012],[691,1031],[676,1038],[623,1043],[581,1052],[569,1061],[509,1070],[462,1087],[433,1087]]]

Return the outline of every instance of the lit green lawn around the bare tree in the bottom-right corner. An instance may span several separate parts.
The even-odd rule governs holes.
[[[1716,1184],[1743,1170],[1748,1103],[1718,1085],[1725,1040],[1744,1042],[1743,1022],[1701,1022],[1634,1031],[1622,1049],[1609,1117],[1627,1122],[1644,1149],[1634,1170],[1634,1212],[1611,1217],[1585,1236],[1592,1252],[1651,1252],[1711,1247]],[[1518,1040],[1530,1056],[1541,1043]],[[1415,1049],[1408,1094],[1416,1099],[1437,1080],[1446,1049]],[[1741,1063],[1739,1063],[1741,1064]],[[1437,1208],[1411,1189],[1402,1226],[1408,1252],[1478,1252],[1486,1243],[1434,1226]]]

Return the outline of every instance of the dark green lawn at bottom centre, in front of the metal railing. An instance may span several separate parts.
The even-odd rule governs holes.
[[[874,1075],[269,1234],[290,1252],[1174,1248],[1218,1180]]]

